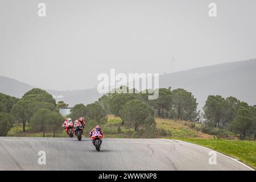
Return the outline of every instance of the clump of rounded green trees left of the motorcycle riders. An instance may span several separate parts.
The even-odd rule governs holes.
[[[15,98],[0,93],[0,135],[6,136],[10,127],[15,122],[22,123],[23,132],[27,123],[30,123],[34,131],[49,131],[55,135],[64,118],[57,113],[55,99],[51,94],[42,89],[32,89],[26,92],[22,98]]]

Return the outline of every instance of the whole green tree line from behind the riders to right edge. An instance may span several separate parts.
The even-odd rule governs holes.
[[[123,90],[122,86],[119,89]],[[94,102],[92,108],[97,106],[96,113],[101,113],[101,117],[94,120],[100,122],[101,118],[105,121],[106,115],[114,114],[129,129],[133,127],[137,131],[142,126],[145,132],[147,129],[154,133],[155,117],[170,118],[201,122],[200,131],[217,137],[228,138],[230,134],[238,135],[241,139],[256,137],[256,105],[249,106],[235,97],[208,96],[203,111],[197,111],[196,98],[185,89],[160,88],[156,100],[148,100],[147,90],[129,92],[129,88],[125,89],[127,93],[115,90]]]

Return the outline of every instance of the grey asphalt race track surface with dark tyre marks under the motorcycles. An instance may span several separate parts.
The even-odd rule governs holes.
[[[0,170],[251,170],[218,152],[209,164],[210,151],[169,139],[106,138],[98,152],[90,138],[0,137]]]

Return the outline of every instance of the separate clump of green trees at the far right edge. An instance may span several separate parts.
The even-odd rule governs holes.
[[[235,97],[208,96],[204,110],[204,132],[239,134],[241,139],[256,139],[256,105],[249,106]]]

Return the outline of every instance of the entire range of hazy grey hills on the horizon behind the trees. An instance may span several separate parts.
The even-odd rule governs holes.
[[[34,88],[2,76],[0,76],[0,85],[0,92],[19,98]],[[184,88],[192,92],[199,102],[199,108],[204,106],[210,94],[234,96],[250,105],[256,105],[256,59],[161,75],[159,86],[160,88],[171,86],[172,89]],[[101,97],[95,88],[71,91],[47,90],[47,92],[55,96],[56,101],[63,100],[70,106],[79,103],[89,104]]]

